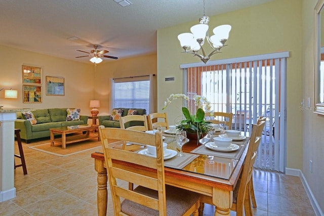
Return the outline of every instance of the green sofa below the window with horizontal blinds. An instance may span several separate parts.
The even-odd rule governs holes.
[[[121,116],[126,116],[130,109],[136,110],[137,115],[146,114],[146,109],[136,109],[136,108],[113,108],[113,109],[116,109],[116,110],[122,109],[123,114]],[[99,125],[104,125],[105,127],[118,127],[118,128],[120,128],[119,121],[110,120],[110,115],[98,116],[98,119],[99,119]],[[125,124],[126,127],[134,126],[134,125],[143,125],[143,122],[135,122],[134,121],[134,122],[129,122],[129,125]]]

